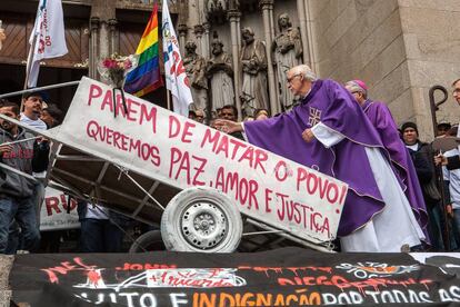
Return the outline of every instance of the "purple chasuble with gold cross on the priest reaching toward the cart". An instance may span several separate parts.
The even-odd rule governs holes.
[[[331,148],[317,139],[306,142],[303,130],[320,121],[344,139]],[[339,236],[350,235],[383,209],[366,154],[366,147],[383,145],[354,98],[336,81],[317,80],[301,105],[274,118],[244,122],[244,130],[249,142],[349,185]]]

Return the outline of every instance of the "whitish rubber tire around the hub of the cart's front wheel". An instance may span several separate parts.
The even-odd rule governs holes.
[[[192,246],[180,229],[183,211],[190,204],[204,200],[212,202],[224,214],[228,227],[222,241],[209,249]],[[161,237],[166,248],[173,251],[232,252],[240,244],[242,229],[241,215],[236,204],[227,195],[212,188],[193,187],[180,191],[168,204],[161,217]]]

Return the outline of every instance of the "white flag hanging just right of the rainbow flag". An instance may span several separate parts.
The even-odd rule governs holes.
[[[189,105],[193,102],[190,82],[179,51],[179,42],[169,16],[168,1],[163,0],[161,31],[163,33],[164,76],[167,89],[171,91],[174,112],[189,115]]]

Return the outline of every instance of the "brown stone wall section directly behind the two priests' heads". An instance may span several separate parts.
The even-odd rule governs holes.
[[[412,116],[398,1],[310,0],[314,67],[321,78],[362,79],[398,123]]]

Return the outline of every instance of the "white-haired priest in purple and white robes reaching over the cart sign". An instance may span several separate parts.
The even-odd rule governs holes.
[[[244,123],[217,120],[218,129],[244,130],[250,143],[349,185],[338,235],[343,251],[400,251],[424,239],[389,165],[388,152],[360,106],[333,80],[311,69],[287,72],[302,102],[280,116]]]

